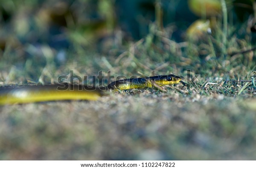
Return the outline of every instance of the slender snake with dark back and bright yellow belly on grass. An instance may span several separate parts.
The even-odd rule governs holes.
[[[22,104],[33,102],[46,102],[57,100],[98,100],[108,90],[129,90],[158,88],[159,86],[186,83],[181,81],[180,76],[174,74],[157,75],[140,78],[119,79],[108,86],[87,86],[70,83],[49,85],[32,85],[16,87],[0,87],[0,105]]]

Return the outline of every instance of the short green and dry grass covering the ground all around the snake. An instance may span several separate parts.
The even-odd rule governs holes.
[[[187,26],[198,17],[173,19],[170,13],[176,17],[189,12],[180,6],[184,1],[170,2],[143,1],[143,9],[137,6],[141,25],[136,26],[141,32],[122,28],[123,15],[120,9],[113,10],[118,8],[114,1],[27,0],[23,7],[20,1],[2,3],[6,14],[0,31],[5,35],[1,86],[27,84],[27,80],[57,83],[58,76],[69,75],[70,70],[81,77],[101,70],[107,75],[111,70],[115,77],[152,71],[182,75],[189,89],[109,92],[98,101],[1,106],[0,159],[255,159],[255,86],[224,83],[254,76],[255,52],[241,51],[255,47],[255,34],[248,31],[247,22],[230,19],[235,14],[227,3],[228,23],[220,14],[215,16],[212,34],[186,39]],[[172,9],[169,15],[166,3]],[[130,6],[135,7],[135,1]],[[157,13],[161,10],[163,16]],[[192,81],[190,75],[199,77]]]

